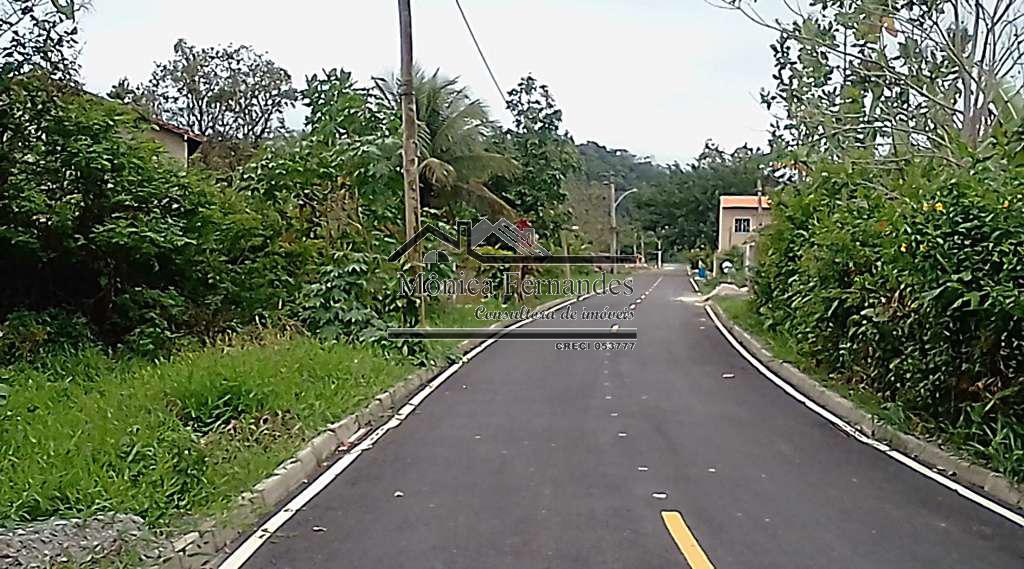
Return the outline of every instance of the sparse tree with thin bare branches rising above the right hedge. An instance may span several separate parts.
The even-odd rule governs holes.
[[[769,21],[752,0],[726,0],[776,31],[775,134],[802,152],[851,149],[955,160],[1009,119],[1021,92],[1024,9],[1017,0],[819,0]],[[1001,113],[1001,115],[1000,115]]]

